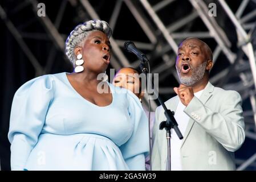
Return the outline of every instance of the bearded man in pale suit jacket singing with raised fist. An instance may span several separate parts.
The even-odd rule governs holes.
[[[209,46],[197,38],[185,39],[178,47],[176,69],[180,86],[177,96],[166,101],[184,136],[171,130],[172,170],[234,170],[234,151],[245,140],[241,96],[233,90],[214,87],[209,82],[213,67]],[[152,169],[166,170],[166,121],[164,109],[157,107],[153,130]]]

